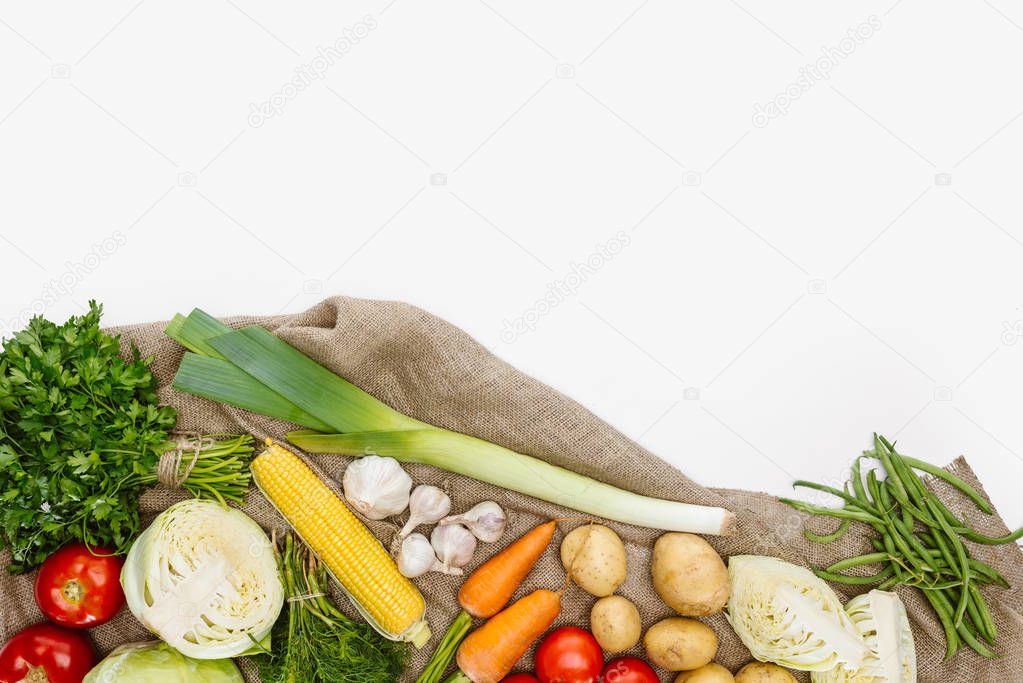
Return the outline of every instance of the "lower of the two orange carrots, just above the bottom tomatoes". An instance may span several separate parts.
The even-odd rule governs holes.
[[[562,610],[562,594],[540,589],[513,602],[469,635],[458,648],[458,670],[473,683],[508,675]]]

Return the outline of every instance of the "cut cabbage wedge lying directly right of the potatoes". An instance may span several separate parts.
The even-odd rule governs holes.
[[[842,602],[809,570],[776,557],[728,559],[725,618],[753,656],[800,671],[859,668],[868,654]]]

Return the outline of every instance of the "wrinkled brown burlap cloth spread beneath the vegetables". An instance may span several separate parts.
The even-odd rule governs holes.
[[[722,556],[765,554],[819,566],[871,551],[866,533],[856,528],[862,526],[854,526],[838,543],[817,545],[802,536],[804,515],[773,497],[746,491],[706,489],[695,484],[575,401],[510,367],[456,327],[412,306],[333,298],[298,315],[233,318],[227,322],[233,326],[265,325],[340,375],[420,420],[487,439],[638,493],[730,508],[738,515],[737,534],[727,538],[708,538]],[[278,420],[216,405],[171,389],[171,379],[183,352],[164,335],[163,328],[163,323],[145,323],[113,331],[122,334],[126,349],[136,345],[143,356],[155,357],[152,368],[160,378],[161,400],[178,409],[179,428],[207,434],[249,431],[258,439],[267,436],[280,439],[294,428]],[[864,441],[866,437],[864,435]],[[858,446],[849,445],[850,458],[856,455]],[[918,455],[926,457],[926,454]],[[693,457],[729,456],[727,453],[694,453]],[[339,480],[347,463],[345,458],[329,455],[312,460],[319,465],[321,474]],[[980,489],[979,482],[962,458],[951,468]],[[498,544],[481,544],[470,570],[541,520],[578,516],[572,510],[433,467],[412,465],[406,469],[416,484],[429,483],[445,489],[451,495],[456,512],[483,500],[497,501],[508,511],[505,536]],[[938,491],[957,512],[967,513],[983,533],[994,536],[1007,533],[996,515],[988,516],[971,509],[959,496],[940,486]],[[183,497],[181,492],[166,489],[148,491],[141,503],[146,520]],[[244,509],[267,529],[284,527],[258,492],[250,494]],[[385,544],[390,543],[397,529],[395,523],[387,521],[368,523]],[[629,555],[628,580],[619,592],[639,607],[644,628],[671,616],[671,610],[654,592],[650,579],[651,547],[660,534],[627,525],[610,526],[625,541]],[[571,527],[563,525],[518,595],[537,588],[558,590],[564,585],[565,573],[558,547]],[[1016,544],[972,549],[976,557],[995,566],[1013,585],[1009,590],[994,588],[984,593],[997,624],[997,650],[1002,657],[986,661],[964,649],[951,662],[941,664],[944,637],[937,620],[915,590],[899,589],[913,620],[920,680],[925,683],[1023,681],[1023,555]],[[3,609],[0,642],[42,619],[33,599],[33,577],[8,576],[2,570],[5,564],[6,558],[0,558],[0,605]],[[407,681],[414,679],[458,610],[459,579],[432,574],[417,580],[416,584],[427,598],[434,638],[415,654],[410,672],[403,679]],[[863,590],[835,588],[844,598]],[[593,600],[577,587],[569,587],[557,624],[588,628]],[[354,614],[343,598],[339,603]],[[749,651],[722,616],[706,621],[720,639],[717,662],[735,672],[751,659]],[[122,643],[150,638],[127,611],[91,634],[102,653]],[[639,647],[629,653],[643,656]],[[517,670],[529,670],[531,664],[529,655]],[[250,682],[259,680],[251,663],[242,662],[242,668]],[[667,672],[660,674],[664,681],[673,680]],[[800,674],[800,680],[808,678]]]

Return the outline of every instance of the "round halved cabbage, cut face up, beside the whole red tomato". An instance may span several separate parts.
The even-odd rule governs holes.
[[[186,500],[135,541],[121,584],[128,608],[183,654],[222,659],[266,640],[284,602],[273,547],[240,510]]]

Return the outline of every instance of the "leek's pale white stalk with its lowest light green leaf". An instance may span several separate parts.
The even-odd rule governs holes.
[[[386,455],[518,491],[616,521],[692,534],[730,534],[735,515],[720,507],[650,498],[558,467],[503,446],[447,429],[320,435],[293,431],[288,441],[310,453]]]

